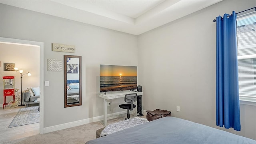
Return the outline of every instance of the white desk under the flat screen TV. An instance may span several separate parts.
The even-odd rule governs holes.
[[[124,91],[124,92],[101,92],[98,94],[99,97],[103,98],[103,122],[104,126],[107,126],[107,100],[112,100],[115,98],[124,98],[125,94],[137,93],[138,96],[142,96],[143,92],[133,92],[133,91]],[[134,102],[136,105],[135,116],[137,116],[137,101]]]

